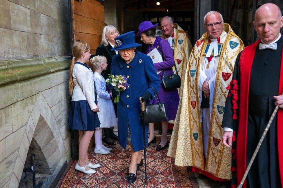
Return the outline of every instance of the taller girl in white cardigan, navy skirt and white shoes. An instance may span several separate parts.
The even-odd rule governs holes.
[[[91,164],[87,152],[94,129],[99,127],[100,122],[92,71],[85,64],[90,57],[90,46],[86,42],[77,41],[73,44],[72,52],[69,74],[69,92],[72,96],[69,127],[79,130],[79,160],[75,169],[85,174],[94,174],[93,168],[100,165]]]

